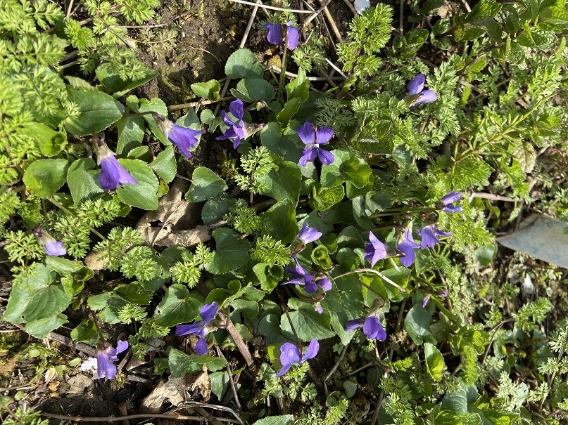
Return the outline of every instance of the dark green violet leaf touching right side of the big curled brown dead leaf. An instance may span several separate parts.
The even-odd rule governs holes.
[[[215,252],[213,259],[205,266],[209,273],[222,275],[236,270],[248,261],[248,249],[251,245],[247,240],[239,240],[239,236],[239,233],[228,228],[213,230]]]

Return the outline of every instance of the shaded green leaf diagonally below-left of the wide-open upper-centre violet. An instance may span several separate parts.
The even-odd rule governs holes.
[[[290,200],[296,205],[300,197],[302,180],[300,167],[294,162],[277,158],[274,158],[274,163],[278,166],[276,171],[272,170],[258,177],[258,181],[268,188],[263,195],[268,195],[278,201]]]

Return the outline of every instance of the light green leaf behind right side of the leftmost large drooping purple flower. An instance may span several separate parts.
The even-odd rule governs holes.
[[[132,207],[146,210],[158,209],[158,189],[160,182],[146,162],[139,159],[119,159],[138,182],[117,188],[118,199]]]

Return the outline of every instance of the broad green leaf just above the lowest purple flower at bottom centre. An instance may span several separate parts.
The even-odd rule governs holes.
[[[292,301],[292,300],[291,300]],[[326,339],[335,336],[335,332],[329,329],[329,313],[324,310],[322,314],[317,313],[311,304],[301,302],[298,310],[289,312],[292,326],[298,334],[300,341],[310,341],[312,339]],[[280,318],[282,334],[286,338],[294,340],[294,332],[286,314]]]

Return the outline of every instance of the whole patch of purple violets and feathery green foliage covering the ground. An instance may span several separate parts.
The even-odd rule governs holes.
[[[127,374],[130,350],[149,373],[205,373],[220,402],[230,353],[259,425],[566,419],[566,320],[550,325],[552,290],[521,294],[524,259],[500,273],[493,241],[523,206],[567,217],[564,1],[413,2],[404,32],[388,4],[367,8],[330,90],[308,79],[329,77],[322,39],[276,15],[263,27],[281,77],[239,48],[227,110],[175,121],[132,94],[156,72],[125,23],[159,2],[82,4],[87,22],[47,1],[0,6],[3,320],[36,338],[72,325],[97,350],[82,366],[95,379]],[[64,79],[70,54],[88,79]],[[192,90],[220,99],[218,81]],[[206,143],[222,164],[198,163]],[[195,205],[199,224],[178,226]],[[267,398],[286,414],[270,418]]]

